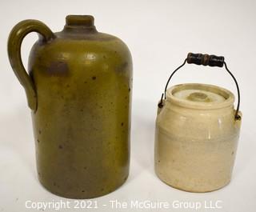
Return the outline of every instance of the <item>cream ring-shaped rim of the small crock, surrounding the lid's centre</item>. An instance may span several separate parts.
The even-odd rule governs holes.
[[[204,90],[210,91],[212,93],[221,95],[225,98],[222,102],[193,102],[190,100],[186,100],[183,98],[178,98],[174,96],[174,93],[180,90]],[[230,90],[226,90],[225,88],[202,84],[202,83],[185,83],[178,84],[170,87],[166,90],[166,100],[172,102],[178,106],[193,108],[193,109],[201,109],[201,110],[212,110],[212,109],[220,109],[224,107],[228,107],[234,104],[234,94],[230,92]]]

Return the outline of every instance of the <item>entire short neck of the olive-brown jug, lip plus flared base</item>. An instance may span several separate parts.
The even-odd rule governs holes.
[[[94,26],[94,17],[91,15],[68,15],[64,31],[97,32]]]

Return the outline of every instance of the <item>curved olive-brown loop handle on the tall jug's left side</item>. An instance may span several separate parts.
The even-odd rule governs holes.
[[[33,79],[26,72],[21,57],[21,46],[23,38],[30,32],[38,33],[38,42],[50,42],[55,35],[44,23],[37,20],[24,20],[14,26],[8,38],[8,56],[10,65],[14,70],[14,74],[18,81],[22,84],[26,91],[28,106],[31,110],[37,110],[37,94]]]

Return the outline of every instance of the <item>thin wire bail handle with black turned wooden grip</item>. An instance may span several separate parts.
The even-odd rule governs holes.
[[[230,72],[230,70],[228,69],[228,67],[226,66],[226,62],[224,61],[225,58],[223,56],[216,56],[216,55],[209,55],[209,54],[194,54],[194,53],[189,53],[187,54],[187,57],[185,59],[185,61],[182,63],[181,66],[178,66],[178,68],[176,70],[174,70],[174,72],[172,74],[170,74],[170,78],[168,78],[167,82],[166,82],[166,86],[165,86],[165,92],[162,94],[161,97],[161,101],[158,104],[158,107],[162,108],[163,106],[163,97],[166,99],[166,90],[168,87],[168,84],[170,82],[170,79],[174,76],[174,74],[176,73],[176,71],[178,71],[180,68],[182,68],[182,66],[184,66],[187,63],[189,64],[196,64],[196,65],[203,65],[203,66],[218,66],[218,67],[223,67],[225,66],[226,71],[230,74],[230,76],[234,79],[235,85],[237,87],[238,90],[238,105],[237,105],[237,109],[235,111],[234,114],[234,118],[235,119],[241,119],[240,115],[238,114],[239,112],[239,106],[240,106],[240,90],[239,90],[239,86],[238,86],[238,82],[236,80],[236,78],[234,77],[234,75]]]

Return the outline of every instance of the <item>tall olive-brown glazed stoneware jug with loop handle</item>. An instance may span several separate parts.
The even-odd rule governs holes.
[[[28,74],[22,39],[37,32]],[[19,22],[10,64],[31,109],[38,178],[66,198],[95,198],[126,181],[130,162],[132,60],[126,44],[99,33],[90,15],[69,15],[61,32]]]

